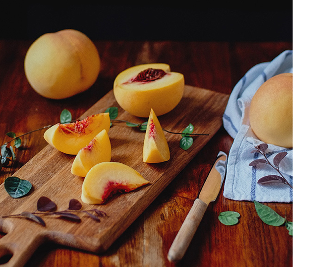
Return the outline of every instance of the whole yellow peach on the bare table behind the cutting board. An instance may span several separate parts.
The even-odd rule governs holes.
[[[38,94],[64,99],[95,83],[100,58],[96,46],[84,33],[66,29],[37,38],[26,53],[24,69]]]

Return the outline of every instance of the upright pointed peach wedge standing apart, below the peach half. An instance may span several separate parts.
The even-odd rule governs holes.
[[[153,109],[150,110],[145,140],[143,144],[143,162],[164,162],[171,158],[169,146],[165,139],[162,127]]]

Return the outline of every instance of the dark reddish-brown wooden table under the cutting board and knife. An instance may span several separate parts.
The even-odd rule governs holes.
[[[270,61],[292,42],[177,42],[95,41],[101,72],[86,92],[65,100],[49,100],[36,94],[24,74],[24,56],[33,40],[0,40],[0,143],[16,135],[59,122],[63,109],[79,117],[113,89],[116,76],[130,66],[165,62],[183,73],[185,83],[230,94],[240,78],[255,64]],[[22,137],[17,160],[0,172],[0,183],[36,155],[46,142],[43,132]],[[233,139],[221,128],[189,165],[167,186],[145,212],[103,254],[96,255],[46,243],[26,266],[291,266],[293,237],[286,227],[264,224],[251,202],[222,196],[211,203],[185,254],[170,263],[167,252],[206,178],[219,150],[229,153]],[[269,207],[293,220],[292,204],[269,203]],[[222,211],[236,211],[235,226],[219,222]],[[1,211],[0,211],[1,212]],[[3,236],[5,233],[2,233]]]

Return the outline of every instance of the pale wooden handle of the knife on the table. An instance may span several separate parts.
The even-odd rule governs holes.
[[[185,254],[208,205],[196,198],[168,252],[170,262],[179,261]]]

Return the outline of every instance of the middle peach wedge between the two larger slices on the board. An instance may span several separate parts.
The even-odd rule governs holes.
[[[111,143],[107,131],[103,129],[86,147],[78,152],[71,166],[71,173],[85,177],[94,165],[110,160]]]

